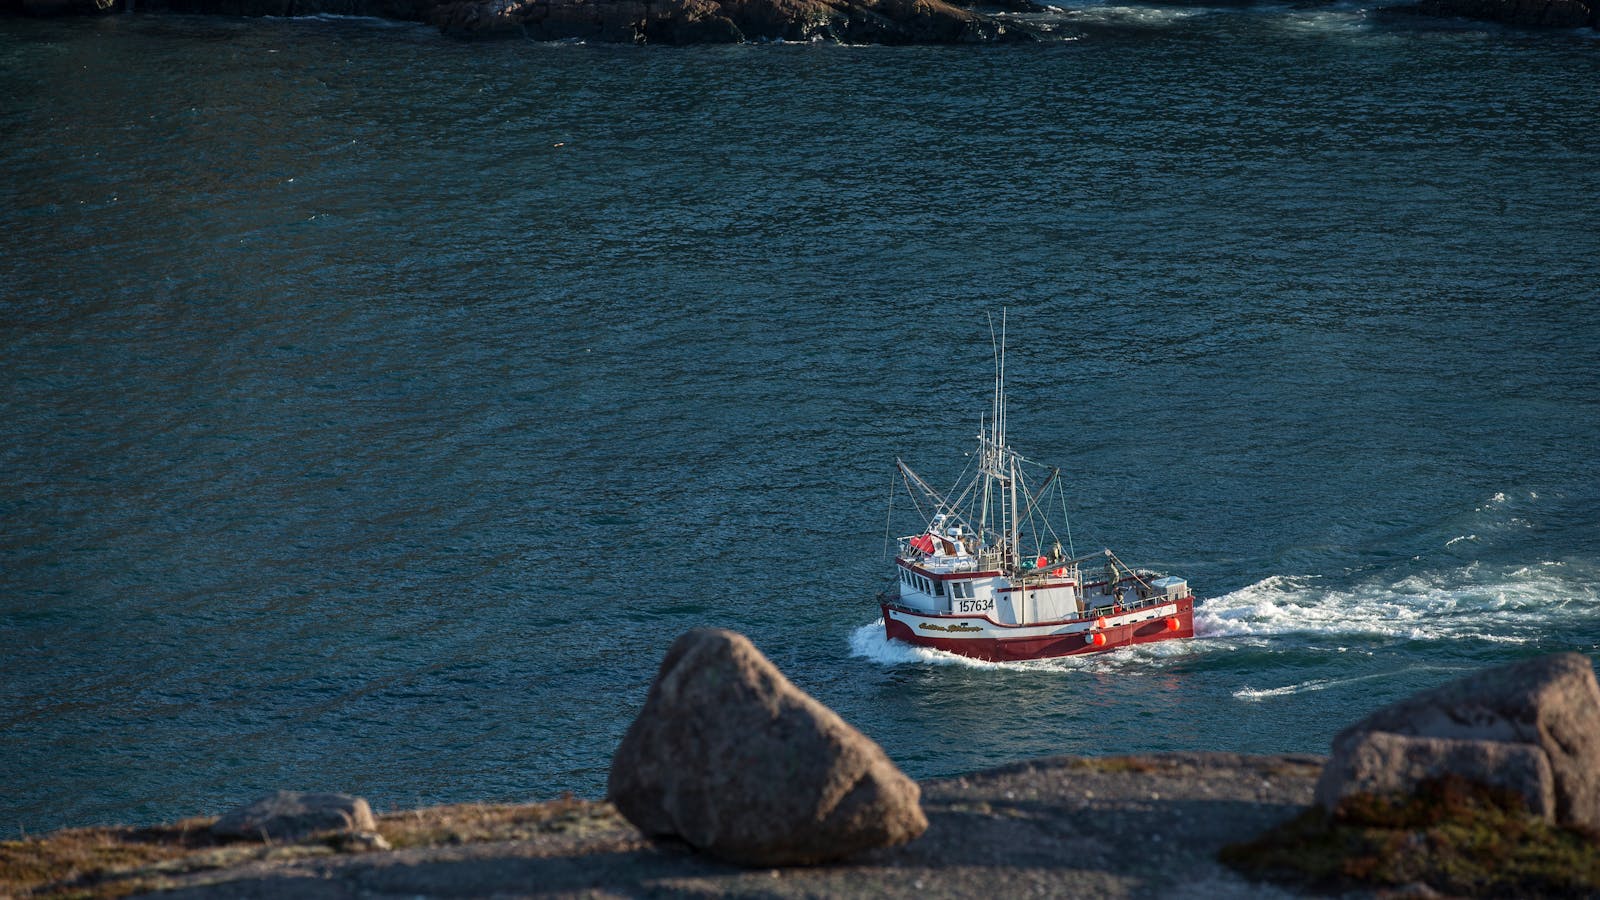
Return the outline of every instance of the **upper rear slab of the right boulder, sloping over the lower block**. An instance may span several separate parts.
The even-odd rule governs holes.
[[[1334,735],[1333,759],[1371,732],[1533,745],[1549,761],[1555,820],[1600,828],[1600,684],[1589,657],[1538,657],[1424,690]],[[1331,783],[1325,793],[1342,794]]]

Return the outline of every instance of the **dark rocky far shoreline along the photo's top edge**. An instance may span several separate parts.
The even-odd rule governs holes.
[[[0,0],[0,14],[371,16],[456,37],[603,43],[1014,43],[1038,40],[1035,0]],[[1416,0],[1389,13],[1539,29],[1600,29],[1600,0]]]

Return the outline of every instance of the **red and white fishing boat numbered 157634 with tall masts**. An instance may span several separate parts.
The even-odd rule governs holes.
[[[894,581],[878,596],[883,631],[990,661],[1194,637],[1195,597],[1184,578],[1130,567],[1110,549],[1072,552],[1061,469],[1006,444],[1003,330],[1002,322],[976,471],[941,493],[894,460],[925,525],[898,540]],[[1056,498],[1064,535],[1045,514]]]

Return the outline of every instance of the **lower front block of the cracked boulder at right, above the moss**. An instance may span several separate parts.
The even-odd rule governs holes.
[[[1522,796],[1528,810],[1554,822],[1550,761],[1531,743],[1406,737],[1363,732],[1328,759],[1317,802],[1328,812],[1352,794],[1411,794],[1427,780],[1458,775]]]

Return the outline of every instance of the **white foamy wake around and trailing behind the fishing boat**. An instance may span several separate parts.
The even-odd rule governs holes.
[[[883,623],[856,628],[851,655],[882,665],[931,663],[1027,671],[1115,673],[1173,657],[1240,647],[1370,652],[1384,644],[1486,647],[1600,645],[1600,564],[1592,559],[1504,562],[1506,544],[1539,522],[1539,495],[1494,493],[1406,541],[1418,556],[1341,575],[1269,575],[1195,605],[1195,641],[1171,641],[1054,660],[989,663],[888,641]],[[1486,562],[1482,556],[1494,557]],[[1240,700],[1320,692],[1357,679],[1301,681]]]

